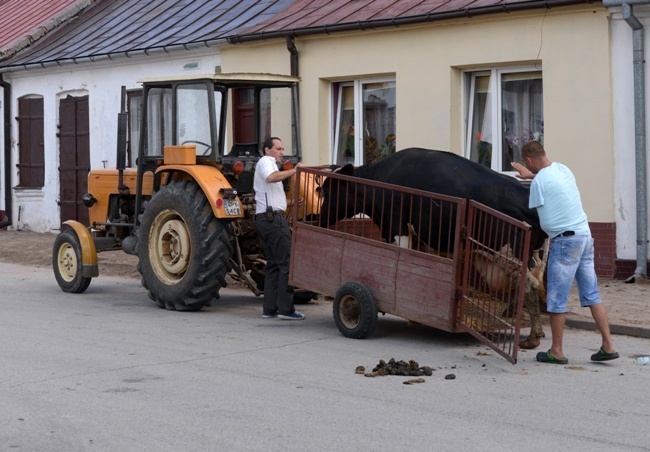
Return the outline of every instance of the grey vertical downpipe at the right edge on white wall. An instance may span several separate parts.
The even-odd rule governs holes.
[[[646,103],[643,25],[634,16],[632,5],[650,5],[650,0],[603,0],[603,6],[620,6],[623,20],[632,28],[632,63],[634,64],[634,163],[636,173],[636,269],[626,281],[648,276],[648,201],[646,166]]]

